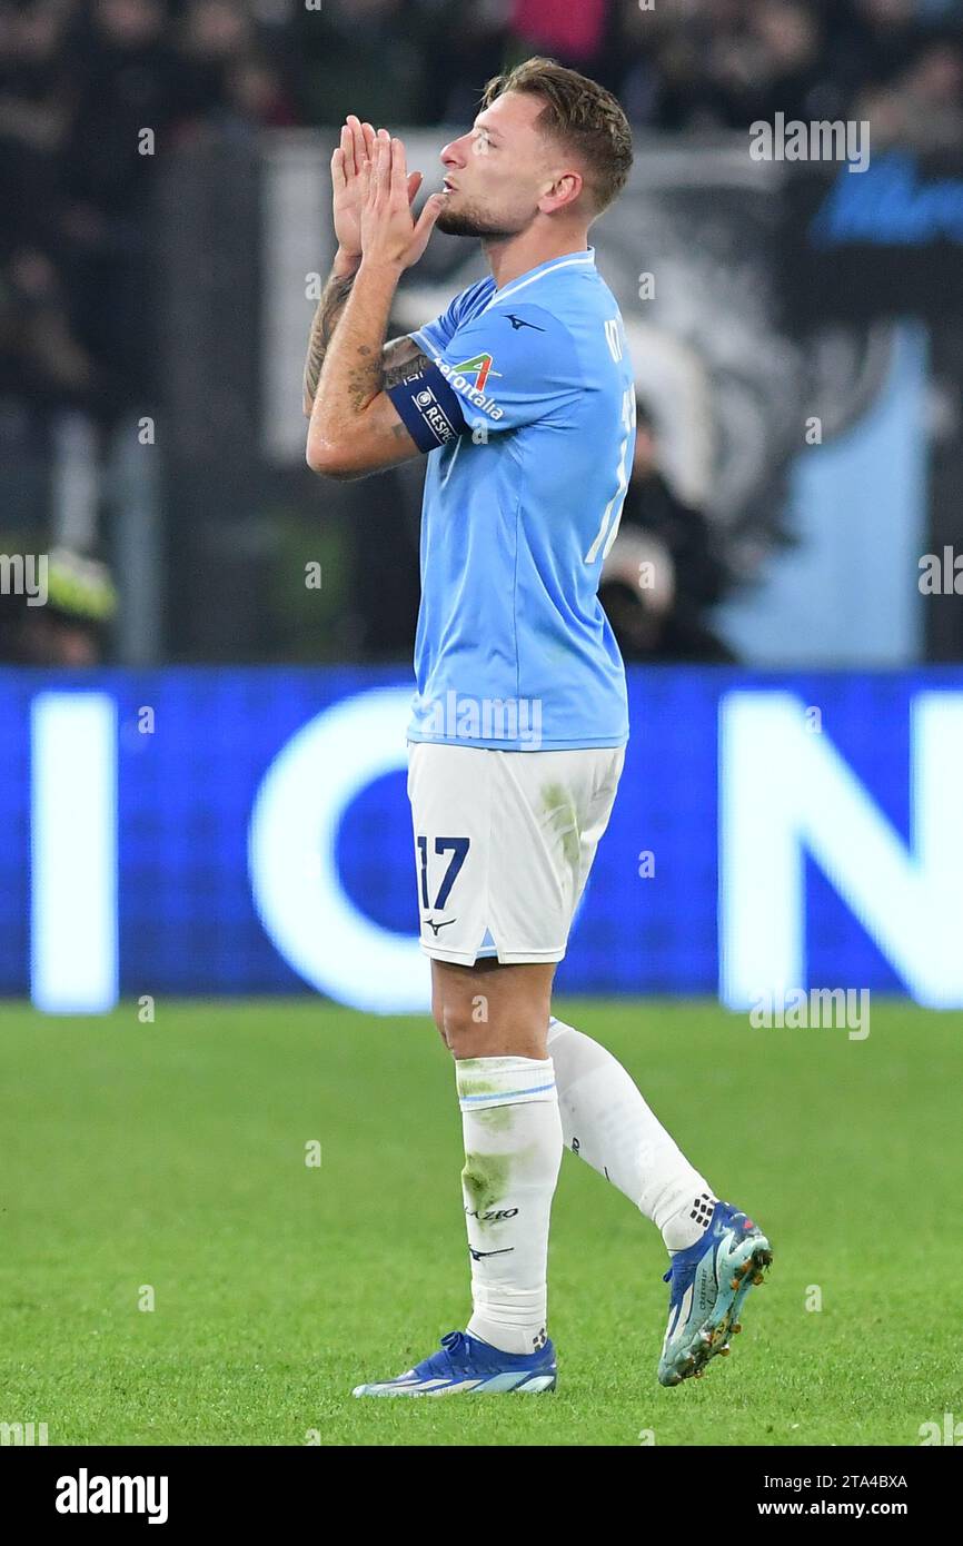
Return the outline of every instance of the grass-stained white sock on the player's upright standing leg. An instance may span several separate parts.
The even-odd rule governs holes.
[[[462,1200],[471,1252],[468,1331],[504,1353],[547,1339],[549,1217],[563,1136],[552,1059],[467,1057]]]

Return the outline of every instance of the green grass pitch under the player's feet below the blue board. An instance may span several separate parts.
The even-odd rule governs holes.
[[[356,1401],[468,1316],[450,1054],[312,1000],[0,1008],[0,1422],[53,1444],[920,1444],[963,1419],[963,1016],[561,1000],[774,1246],[733,1356],[655,1381],[666,1257],[566,1153],[553,1394]],[[322,1146],[308,1166],[306,1146]],[[153,1291],[153,1309],[147,1288]],[[821,1309],[808,1308],[821,1296]],[[649,1438],[651,1436],[651,1438]]]

